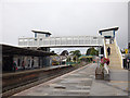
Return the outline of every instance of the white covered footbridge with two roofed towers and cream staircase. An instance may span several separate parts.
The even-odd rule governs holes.
[[[99,36],[62,36],[50,37],[49,32],[35,33],[31,38],[18,38],[20,47],[36,48],[65,48],[65,47],[104,47],[104,57],[110,59],[113,69],[122,69],[122,56],[116,41],[116,30],[119,27],[105,28],[99,30]],[[110,56],[107,54],[107,47],[110,47]]]

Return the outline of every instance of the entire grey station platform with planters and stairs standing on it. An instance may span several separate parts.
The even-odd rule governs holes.
[[[110,70],[110,81],[95,79],[96,63],[17,93],[13,96],[122,96],[129,95],[129,71]]]

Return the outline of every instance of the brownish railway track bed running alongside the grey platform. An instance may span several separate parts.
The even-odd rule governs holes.
[[[8,74],[2,77],[2,97],[10,97],[16,93],[20,93],[24,89],[30,88],[38,84],[48,82],[52,78],[61,76],[65,73],[74,71],[81,65],[77,66],[64,66],[50,70],[37,70],[28,71],[21,74]]]

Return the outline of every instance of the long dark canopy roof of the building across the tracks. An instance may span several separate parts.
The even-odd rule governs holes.
[[[46,56],[53,56],[55,53],[42,51],[42,50],[34,50],[34,49],[27,49],[27,48],[20,48],[9,45],[0,45],[0,50],[2,51],[2,54],[9,54],[9,56],[31,56],[31,57],[46,57]]]

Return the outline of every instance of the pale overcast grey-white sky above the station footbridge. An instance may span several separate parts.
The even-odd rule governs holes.
[[[96,36],[102,28],[118,26],[117,42],[126,48],[128,1],[1,0],[0,41],[17,46],[18,37],[34,36],[32,29],[49,30],[52,36]]]

